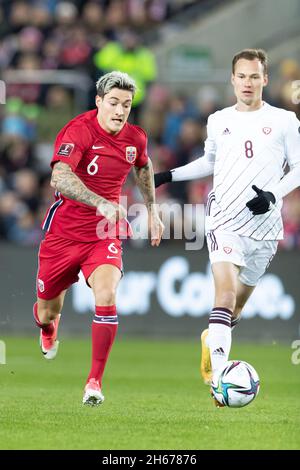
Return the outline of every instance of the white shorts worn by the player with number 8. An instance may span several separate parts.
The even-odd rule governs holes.
[[[256,286],[278,246],[277,240],[254,240],[219,230],[209,231],[206,241],[211,264],[227,261],[240,266],[239,279],[247,286]]]

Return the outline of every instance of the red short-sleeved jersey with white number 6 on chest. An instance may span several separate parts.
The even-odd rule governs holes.
[[[67,163],[87,188],[118,203],[131,168],[147,164],[147,135],[129,123],[118,134],[109,134],[98,123],[97,112],[80,114],[59,132],[51,166],[57,161]],[[105,218],[96,212],[96,207],[56,192],[42,228],[70,240],[97,241],[97,226]]]

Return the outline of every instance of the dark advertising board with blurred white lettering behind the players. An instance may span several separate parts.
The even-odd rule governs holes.
[[[1,324],[6,332],[33,331],[36,250],[1,245]],[[236,329],[240,339],[291,340],[299,336],[299,255],[280,252],[250,298]],[[205,327],[213,304],[213,282],[205,250],[180,245],[158,250],[126,249],[117,306],[119,334],[194,336]],[[64,307],[65,333],[89,333],[93,297],[83,277]]]

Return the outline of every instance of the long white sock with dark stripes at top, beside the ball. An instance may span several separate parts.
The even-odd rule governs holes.
[[[216,307],[209,316],[208,342],[213,374],[228,361],[231,348],[231,315],[229,309]]]

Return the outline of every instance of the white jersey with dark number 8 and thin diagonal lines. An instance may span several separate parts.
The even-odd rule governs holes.
[[[286,164],[293,168],[300,163],[299,124],[293,112],[267,103],[252,112],[239,112],[232,106],[208,118],[205,157],[214,162],[208,230],[256,240],[283,238],[282,199],[276,186]],[[253,215],[246,207],[256,196],[254,184],[275,194],[276,203],[266,214]]]

